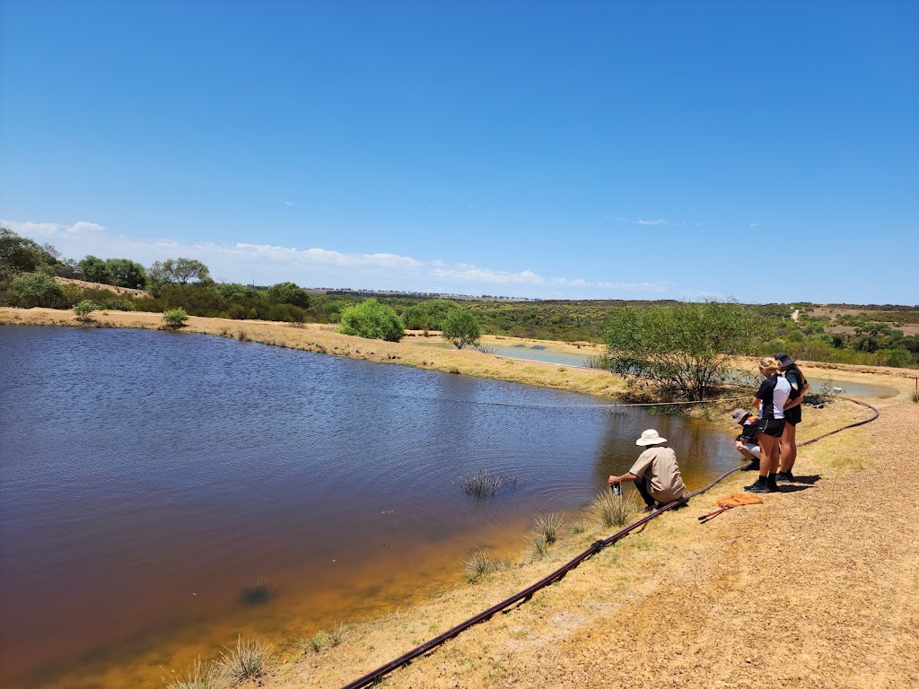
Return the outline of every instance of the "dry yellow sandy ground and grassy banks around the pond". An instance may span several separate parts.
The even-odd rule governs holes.
[[[160,314],[100,312],[110,327],[158,328]],[[0,323],[77,325],[70,311],[0,309]],[[330,326],[189,319],[186,332],[291,346],[615,397],[607,372],[520,362],[475,351],[361,340]],[[177,335],[181,336],[181,335]],[[511,338],[484,344],[508,344]],[[517,342],[517,341],[513,341]],[[585,346],[533,341],[584,355]],[[602,352],[601,347],[596,353]],[[739,361],[739,367],[749,362]],[[810,483],[767,495],[709,525],[721,495],[742,491],[735,474],[689,508],[665,514],[587,560],[562,582],[425,658],[394,672],[394,686],[893,687],[919,685],[919,498],[902,491],[919,471],[913,440],[919,405],[911,369],[811,365],[808,375],[898,390],[877,401],[877,422],[801,448],[796,473]],[[837,401],[808,410],[800,440],[864,418]],[[730,424],[725,424],[729,432]],[[893,501],[893,502],[891,502]],[[352,628],[341,645],[313,652],[293,641],[259,685],[334,687],[558,567],[603,529],[563,537],[548,558],[512,567],[407,611]],[[318,630],[317,630],[318,631]],[[215,649],[216,652],[216,649]],[[181,670],[179,668],[179,670]],[[255,684],[253,684],[255,685]]]

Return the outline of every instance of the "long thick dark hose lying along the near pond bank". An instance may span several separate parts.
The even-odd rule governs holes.
[[[873,407],[866,402],[853,400],[848,397],[843,398],[843,399],[848,400],[848,401],[853,401],[856,404],[859,404],[863,407],[868,407],[868,409],[874,412],[874,415],[871,416],[871,418],[869,419],[864,419],[863,421],[858,421],[854,424],[847,424],[843,426],[842,428],[837,428],[836,430],[830,431],[829,433],[824,433],[823,435],[818,435],[815,438],[806,440],[803,443],[800,443],[799,447],[805,446],[805,445],[811,445],[811,443],[815,443],[818,440],[825,438],[827,435],[834,435],[836,433],[839,433],[840,431],[845,431],[847,428],[855,428],[856,426],[860,426],[863,424],[869,424],[870,422],[874,421],[880,416],[880,412],[877,407]],[[466,631],[466,629],[469,629],[470,627],[477,625],[480,622],[484,622],[485,620],[490,619],[495,614],[500,613],[503,610],[505,610],[505,608],[508,608],[511,605],[520,603],[520,602],[526,603],[530,598],[533,597],[533,593],[536,593],[537,591],[539,591],[539,589],[545,588],[552,582],[561,581],[564,578],[565,574],[567,574],[569,571],[573,570],[579,564],[584,562],[585,559],[593,557],[594,555],[596,555],[596,553],[600,552],[600,550],[602,550],[603,548],[607,548],[607,546],[611,546],[614,543],[616,543],[618,540],[620,540],[621,538],[628,536],[632,531],[634,531],[637,528],[640,528],[643,525],[646,525],[648,522],[650,522],[654,517],[658,516],[659,514],[664,514],[664,512],[667,512],[668,510],[682,507],[689,501],[690,498],[694,498],[697,495],[701,495],[703,492],[708,491],[710,488],[712,488],[717,483],[720,483],[720,481],[731,476],[732,473],[740,471],[741,469],[743,469],[743,467],[738,467],[737,469],[731,469],[730,471],[727,471],[721,474],[717,479],[711,481],[711,483],[709,483],[709,485],[705,486],[704,488],[700,488],[698,491],[693,491],[687,495],[684,495],[682,498],[680,498],[679,500],[673,503],[665,504],[660,509],[657,509],[651,514],[648,514],[647,516],[642,517],[634,524],[626,526],[621,531],[617,531],[612,536],[596,541],[594,544],[591,545],[590,548],[587,548],[580,555],[578,555],[574,559],[571,559],[565,564],[563,564],[562,567],[560,567],[558,570],[555,570],[551,572],[550,574],[548,574],[547,576],[543,577],[542,579],[539,580],[539,582],[531,584],[526,589],[524,589],[520,593],[515,593],[510,598],[505,598],[505,600],[501,601],[501,603],[492,605],[487,610],[483,610],[478,615],[470,617],[468,620],[466,620],[465,622],[461,622],[456,627],[452,627],[448,629],[443,634],[440,634],[439,636],[432,638],[430,641],[425,642],[421,646],[408,651],[407,653],[399,656],[399,658],[395,659],[394,661],[390,661],[386,663],[385,665],[380,666],[373,672],[368,672],[363,677],[358,678],[354,682],[346,684],[343,687],[343,689],[359,689],[360,687],[368,686],[369,684],[377,682],[378,680],[380,680],[380,678],[383,675],[388,674],[392,672],[393,670],[396,670],[402,667],[403,665],[407,665],[411,661],[414,661],[415,658],[418,658],[419,656],[424,655],[429,650],[437,648],[437,646],[444,643],[445,641],[448,641],[448,639],[459,636],[459,634]]]

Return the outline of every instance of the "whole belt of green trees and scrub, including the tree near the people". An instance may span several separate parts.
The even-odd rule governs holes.
[[[85,280],[86,286],[63,279]],[[105,288],[102,286],[111,286]],[[120,292],[115,291],[121,288]],[[132,292],[129,290],[143,290]],[[315,290],[318,291],[318,290]],[[919,364],[919,306],[624,300],[444,299],[346,290],[310,293],[293,282],[270,287],[215,282],[195,259],[149,267],[127,258],[63,258],[0,228],[0,306],[173,311],[195,316],[336,323],[343,333],[398,341],[405,330],[440,332],[458,347],[482,333],[607,344],[598,365],[673,396],[696,399],[720,385],[728,356],[788,352],[801,359],[909,367]],[[824,305],[825,307],[826,305]],[[88,307],[84,307],[88,308]],[[792,313],[797,311],[797,318]],[[690,372],[691,371],[691,372]]]

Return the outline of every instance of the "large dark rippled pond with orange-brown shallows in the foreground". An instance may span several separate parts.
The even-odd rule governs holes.
[[[159,687],[516,557],[655,427],[690,490],[729,433],[594,398],[196,334],[0,326],[0,685]],[[540,406],[542,405],[542,406]],[[730,429],[731,424],[725,424]],[[516,488],[476,502],[480,469]],[[244,582],[271,596],[245,604]]]

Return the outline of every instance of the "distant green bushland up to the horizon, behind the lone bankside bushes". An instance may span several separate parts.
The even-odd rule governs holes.
[[[110,285],[144,289],[149,296],[134,297],[105,288],[62,284],[69,277]],[[0,228],[0,306],[43,306],[71,309],[82,300],[100,309],[168,311],[181,307],[191,315],[238,320],[338,323],[347,308],[377,299],[395,311],[409,330],[439,331],[453,310],[470,311],[482,333],[563,342],[610,342],[607,328],[626,307],[643,309],[674,305],[673,300],[584,299],[518,300],[462,298],[420,293],[328,290],[308,293],[293,282],[271,287],[218,283],[199,261],[176,258],[143,267],[129,259],[102,260],[85,256],[66,259],[50,244],[39,244]],[[760,322],[751,351],[827,362],[908,367],[919,364],[919,336],[904,335],[897,326],[919,323],[919,306],[890,304],[828,305],[846,311],[862,310],[832,319],[811,316],[818,305],[745,305]],[[797,321],[791,318],[798,310]],[[852,332],[826,329],[848,326]]]

